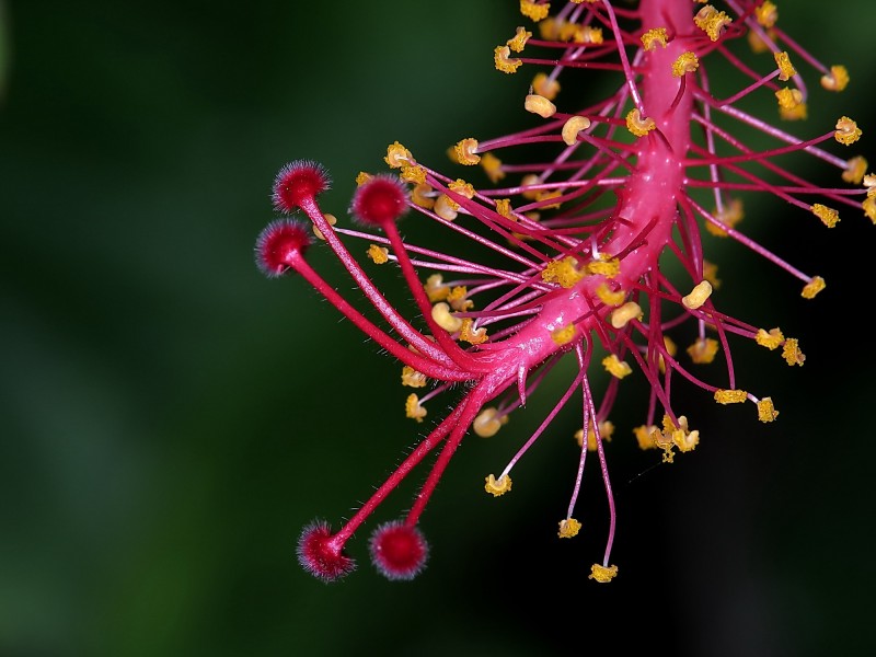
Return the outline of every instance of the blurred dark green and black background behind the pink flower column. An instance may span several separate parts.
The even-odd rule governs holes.
[[[482,491],[550,391],[463,443],[423,521],[433,556],[418,579],[373,572],[370,527],[343,583],[298,567],[301,527],[349,516],[419,427],[394,362],[303,281],[253,265],[273,176],[320,160],[335,181],[326,209],[343,216],[356,173],[382,170],[393,140],[441,162],[462,137],[518,125],[530,76],[492,61],[523,24],[516,4],[0,2],[0,657],[873,654],[876,228],[850,211],[828,232],[747,206],[752,234],[827,279],[814,301],[711,243],[723,308],[782,326],[807,360],[742,347],[742,381],[781,417],[691,396],[703,438],[672,465],[623,439],[644,412],[631,385],[609,450],[610,586],[587,579],[606,533],[595,470],[585,531],[555,537],[573,410],[512,495]],[[849,114],[876,160],[876,9],[779,7],[785,30],[852,74],[841,96],[810,76],[800,134]],[[314,261],[349,289],[324,250]]]

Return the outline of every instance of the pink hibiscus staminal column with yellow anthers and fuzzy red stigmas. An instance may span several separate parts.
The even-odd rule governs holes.
[[[713,293],[719,281],[705,257],[702,231],[766,258],[799,279],[802,296],[811,299],[823,279],[740,230],[742,197],[779,197],[827,228],[839,221],[838,208],[846,207],[876,222],[876,176],[867,174],[866,161],[832,154],[858,139],[855,122],[843,116],[804,139],[782,127],[806,117],[809,90],[796,65],[814,70],[820,85],[834,92],[845,88],[849,74],[788,37],[772,2],[726,0],[723,10],[691,0],[642,0],[637,9],[609,0],[556,4],[558,11],[550,14],[546,2],[520,0],[538,36],[518,27],[494,51],[499,71],[537,69],[523,107],[543,120],[486,141],[464,138],[449,151],[454,166],[480,165],[483,186],[439,173],[395,142],[385,162],[397,175],[360,174],[350,205],[358,227],[342,228],[316,199],[330,185],[322,166],[298,161],[276,177],[276,210],[307,216],[383,325],[311,268],[306,251],[315,242],[299,220],[277,219],[263,231],[256,245],[261,268],[269,276],[299,274],[401,361],[403,384],[425,391],[407,395],[408,417],[422,423],[427,402],[440,396],[440,407],[454,400],[343,527],[335,531],[320,520],[304,529],[299,560],[325,581],[354,568],[346,542],[434,454],[407,514],[378,527],[369,543],[374,565],[390,579],[419,573],[428,546],[417,525],[463,438],[470,430],[483,437],[498,431],[565,357],[577,364],[568,388],[498,476],[485,477],[484,487],[496,497],[510,491],[515,464],[549,433],[561,408],[579,400],[577,475],[568,507],[557,514],[557,534],[572,538],[581,527],[574,512],[588,454],[595,453],[610,523],[604,554],[590,577],[611,580],[618,570],[610,560],[615,508],[604,442],[614,430],[609,416],[621,381],[635,372],[649,383],[642,424],[630,429],[641,448],[656,449],[671,462],[700,440],[672,401],[679,378],[718,404],[750,403],[758,418],[770,423],[779,413],[770,396],[749,392],[737,380],[730,342],[779,349],[789,366],[805,360],[797,341],[779,327],[754,326],[718,309]],[[713,81],[712,60],[733,74]],[[607,97],[583,107],[554,103],[562,100],[561,77],[563,85],[578,83],[576,76],[587,83],[591,70],[615,76]],[[756,95],[772,96],[777,120],[746,110]],[[762,139],[736,136],[739,127]],[[792,153],[835,168],[837,183],[821,186],[785,169]],[[450,253],[405,241],[397,221],[408,210],[469,247]],[[369,267],[389,262],[401,269],[415,313],[403,313],[372,283],[346,245],[355,240],[369,244]],[[679,355],[670,334],[685,322],[695,325],[696,337]],[[715,358],[724,365],[717,380],[707,381],[698,366]],[[603,391],[590,384],[593,368],[611,374]]]

